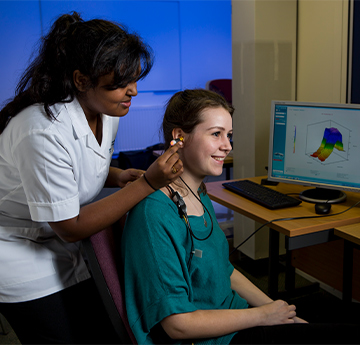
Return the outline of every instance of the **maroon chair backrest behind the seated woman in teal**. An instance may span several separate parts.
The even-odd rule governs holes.
[[[108,312],[113,327],[122,344],[136,344],[127,319],[121,288],[121,274],[118,272],[113,229],[121,233],[126,216],[119,224],[110,227],[82,241],[91,274]]]

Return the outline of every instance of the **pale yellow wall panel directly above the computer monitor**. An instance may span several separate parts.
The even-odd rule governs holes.
[[[346,103],[348,0],[299,0],[297,101]]]

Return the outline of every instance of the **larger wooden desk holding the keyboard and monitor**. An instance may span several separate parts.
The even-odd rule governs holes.
[[[260,183],[265,176],[249,178]],[[243,214],[259,223],[280,218],[312,217],[307,219],[275,221],[269,226],[269,295],[276,298],[278,294],[278,262],[279,262],[279,233],[285,235],[287,256],[291,250],[307,247],[314,244],[325,243],[334,238],[334,228],[360,222],[359,207],[354,207],[348,212],[334,216],[319,216],[315,214],[314,204],[302,202],[299,206],[280,210],[269,210],[246,198],[226,190],[222,183],[225,181],[209,182],[206,184],[209,197],[225,207]],[[295,184],[279,183],[269,188],[282,193],[300,193],[309,187]],[[359,194],[347,192],[347,200],[341,204],[332,205],[331,214],[345,211],[359,200]],[[291,290],[294,286],[295,269],[287,260],[286,288]]]

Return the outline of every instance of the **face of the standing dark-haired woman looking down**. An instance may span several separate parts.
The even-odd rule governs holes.
[[[122,117],[129,112],[131,98],[137,95],[136,82],[113,89],[112,81],[112,74],[102,76],[98,85],[90,89],[86,89],[86,80],[83,81],[85,91],[80,93],[79,102],[88,120],[98,114]]]

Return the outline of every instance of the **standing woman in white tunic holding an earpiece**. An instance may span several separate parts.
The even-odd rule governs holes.
[[[78,241],[182,173],[181,144],[146,173],[110,166],[152,61],[121,26],[63,15],[0,111],[0,313],[23,344],[117,341]],[[90,203],[104,185],[121,189]]]

